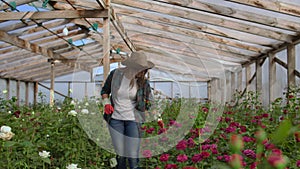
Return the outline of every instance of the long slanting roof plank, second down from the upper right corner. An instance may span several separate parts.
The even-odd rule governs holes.
[[[183,7],[189,7],[201,11],[211,12],[222,16],[242,19],[254,23],[260,23],[272,27],[277,27],[277,28],[282,28],[282,29],[287,29],[292,31],[300,30],[299,22],[287,20],[282,17],[263,15],[257,12],[254,13],[251,11],[251,9],[245,7],[243,8],[243,10],[241,10],[238,7],[232,7],[232,5],[230,3],[227,3],[226,1],[223,2],[222,4],[217,2],[215,3],[204,2],[199,0],[190,0],[190,1],[159,0],[159,1],[170,3],[170,4],[176,4]]]

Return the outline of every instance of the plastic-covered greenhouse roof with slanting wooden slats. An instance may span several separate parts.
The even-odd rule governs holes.
[[[47,7],[42,7],[44,2],[1,0],[0,9],[92,10],[103,9],[101,4],[105,4],[99,0],[49,0]],[[11,9],[12,4],[16,10]],[[300,39],[299,0],[111,0],[111,9],[116,16],[112,20],[120,21],[135,49],[145,50],[155,63],[153,79],[207,81],[222,76],[225,70],[240,70]],[[95,24],[96,31],[91,29]],[[102,26],[102,18],[2,18],[0,77],[50,79],[49,53],[59,56],[53,58],[60,60],[55,64],[56,76],[92,71],[102,63]],[[62,32],[65,27],[67,36]],[[115,25],[110,28],[111,49],[130,53]],[[120,59],[120,55],[111,55],[111,62]]]

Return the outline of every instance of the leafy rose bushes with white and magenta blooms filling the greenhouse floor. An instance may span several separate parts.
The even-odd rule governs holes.
[[[199,103],[196,116],[187,116],[195,121],[189,132],[163,153],[142,149],[141,165],[149,169],[300,168],[299,93],[298,88],[292,89],[270,109],[261,106],[255,93],[237,97],[239,104],[225,106],[217,129],[207,140],[201,139],[209,130],[204,127],[205,120],[217,108]],[[0,101],[1,168],[96,169],[115,165],[115,155],[95,143],[101,136],[91,139],[78,120],[89,117],[95,119],[91,126],[97,126],[101,105],[96,99],[76,104],[66,99],[53,107],[45,103],[19,107],[15,98]],[[178,99],[168,103],[159,121],[143,125],[144,137],[181,128],[177,116],[181,104],[188,102]],[[141,146],[145,144],[159,147],[164,140]]]

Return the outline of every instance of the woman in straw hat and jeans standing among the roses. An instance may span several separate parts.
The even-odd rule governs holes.
[[[150,107],[151,88],[145,78],[154,64],[144,52],[133,52],[122,62],[125,68],[113,70],[101,90],[104,117],[117,153],[117,169],[138,169],[140,124]],[[106,118],[108,117],[108,118]]]

